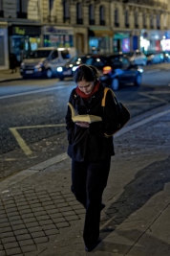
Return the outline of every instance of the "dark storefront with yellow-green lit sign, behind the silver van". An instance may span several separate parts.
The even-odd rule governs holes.
[[[41,27],[40,26],[20,26],[12,25],[9,27],[10,53],[14,54],[18,62],[22,61],[24,56],[30,54],[41,45]]]

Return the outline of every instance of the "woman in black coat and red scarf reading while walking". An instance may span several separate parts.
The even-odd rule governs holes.
[[[111,156],[115,154],[113,137],[104,136],[112,133],[115,106],[112,93],[108,92],[103,112],[104,86],[94,66],[80,65],[74,71],[74,82],[76,87],[71,93],[66,114],[68,154],[72,158],[72,192],[86,209],[85,249],[91,251],[100,242],[100,211],[105,206],[102,194],[107,184]]]

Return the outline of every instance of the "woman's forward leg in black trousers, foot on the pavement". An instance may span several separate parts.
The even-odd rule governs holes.
[[[90,163],[87,175],[87,207],[83,238],[88,248],[96,244],[99,237],[101,198],[110,171],[111,157],[97,163]]]

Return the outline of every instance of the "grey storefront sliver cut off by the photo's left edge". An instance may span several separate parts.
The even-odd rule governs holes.
[[[9,69],[8,23],[0,22],[0,70]]]

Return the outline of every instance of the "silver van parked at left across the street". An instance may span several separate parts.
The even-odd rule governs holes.
[[[75,48],[42,47],[23,59],[20,74],[23,78],[56,75],[56,68],[76,54]]]

